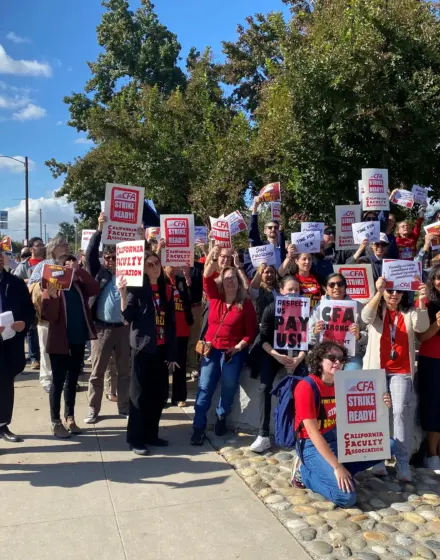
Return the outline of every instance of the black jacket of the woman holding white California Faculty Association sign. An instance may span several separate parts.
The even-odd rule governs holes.
[[[137,351],[154,354],[156,352],[156,309],[153,292],[148,278],[140,288],[128,288],[127,307],[122,312],[130,323],[130,346]],[[165,314],[166,357],[170,362],[177,361],[176,315],[171,286],[167,286],[168,305]]]

